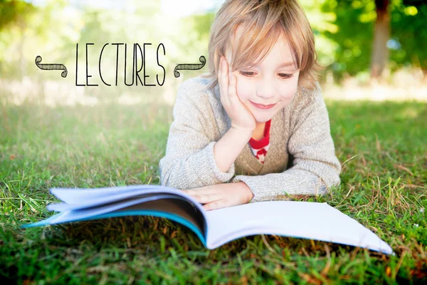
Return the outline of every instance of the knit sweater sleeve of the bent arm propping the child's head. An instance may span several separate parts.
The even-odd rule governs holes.
[[[161,185],[179,190],[229,182],[234,163],[227,172],[216,165],[209,100],[201,92],[201,84],[191,78],[179,86],[169,128],[166,154],[159,161]]]

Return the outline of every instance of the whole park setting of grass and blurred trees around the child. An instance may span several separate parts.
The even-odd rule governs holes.
[[[394,284],[427,279],[427,3],[300,1],[316,37],[320,84],[342,162],[328,202],[388,242],[396,257],[325,242],[255,236],[204,249],[162,218],[19,229],[49,217],[50,187],[159,184],[179,85],[207,71],[209,28],[223,1],[0,0],[0,274],[26,284],[90,282]],[[85,43],[90,83],[85,83]],[[102,76],[98,75],[102,46]],[[124,47],[146,49],[147,83],[125,86]],[[35,64],[63,63],[60,71]],[[128,74],[132,70],[128,68]],[[143,75],[143,73],[139,73]],[[129,81],[128,81],[129,82]]]

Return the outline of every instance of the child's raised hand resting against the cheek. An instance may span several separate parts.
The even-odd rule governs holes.
[[[221,103],[231,119],[231,128],[252,133],[256,128],[255,118],[238,97],[237,78],[231,73],[231,68],[228,68],[228,62],[223,56],[219,62],[218,83]]]

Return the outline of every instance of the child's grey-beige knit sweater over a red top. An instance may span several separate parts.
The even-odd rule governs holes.
[[[162,185],[189,190],[243,181],[253,192],[251,202],[323,195],[339,185],[341,164],[319,83],[315,91],[298,87],[289,105],[272,118],[264,164],[247,143],[227,172],[216,166],[214,145],[231,128],[231,120],[221,105],[218,84],[208,90],[208,83],[195,77],[179,86],[166,154],[159,161]]]

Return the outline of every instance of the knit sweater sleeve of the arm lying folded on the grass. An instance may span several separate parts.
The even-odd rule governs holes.
[[[278,196],[286,194],[324,195],[328,187],[340,184],[341,164],[335,156],[329,115],[319,83],[316,87],[312,93],[302,93],[305,103],[295,114],[297,118],[288,140],[293,166],[280,173],[233,178],[232,182],[248,185],[253,192],[251,202],[280,199]]]

